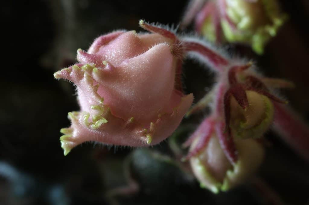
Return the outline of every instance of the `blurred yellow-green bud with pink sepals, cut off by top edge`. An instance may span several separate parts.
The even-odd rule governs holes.
[[[208,40],[248,44],[262,54],[287,16],[277,0],[192,0],[183,26],[193,18],[197,32]]]

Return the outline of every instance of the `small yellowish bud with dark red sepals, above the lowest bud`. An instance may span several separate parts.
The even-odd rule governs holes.
[[[245,73],[251,66],[231,67],[224,94],[225,131],[240,139],[262,136],[273,122],[272,101],[287,103],[271,94],[258,76]]]

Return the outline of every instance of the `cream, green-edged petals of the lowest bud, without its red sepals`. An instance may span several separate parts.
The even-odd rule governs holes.
[[[192,143],[190,150],[195,149],[198,140]],[[228,191],[254,174],[264,159],[262,145],[254,139],[238,140],[235,145],[238,160],[234,165],[226,158],[215,134],[198,155],[190,158],[193,173],[201,187],[214,193]]]

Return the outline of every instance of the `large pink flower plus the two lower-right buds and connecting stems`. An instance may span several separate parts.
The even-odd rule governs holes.
[[[143,20],[151,33],[115,31],[95,40],[79,63],[54,74],[74,82],[81,110],[70,112],[71,126],[61,129],[64,154],[86,141],[150,146],[178,127],[193,102],[184,94],[182,62],[197,58],[212,68],[218,82],[188,113],[211,103],[211,114],[191,135],[184,160],[190,160],[201,185],[226,191],[252,175],[264,158],[262,137],[274,121],[275,131],[309,159],[309,128],[286,108],[274,88],[292,87],[265,78],[251,62],[222,54],[195,38],[178,37]]]

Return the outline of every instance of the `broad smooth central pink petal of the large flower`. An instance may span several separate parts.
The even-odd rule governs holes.
[[[170,47],[161,43],[103,74],[98,93],[113,115],[153,121],[160,113],[170,113],[182,97],[172,94],[175,63]]]

